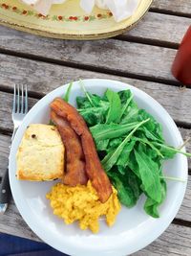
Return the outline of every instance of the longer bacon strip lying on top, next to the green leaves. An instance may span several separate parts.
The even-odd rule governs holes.
[[[112,194],[112,186],[101,166],[92,134],[82,116],[80,116],[74,106],[64,102],[61,98],[54,99],[51,108],[57,115],[67,119],[77,135],[81,137],[86,162],[86,173],[92,181],[100,201],[107,201]]]

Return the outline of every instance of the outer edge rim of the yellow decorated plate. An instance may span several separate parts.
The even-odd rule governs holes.
[[[142,15],[138,18],[138,20],[136,20],[135,22],[133,22],[131,25],[129,26],[124,26],[121,27],[117,30],[113,30],[107,33],[87,33],[87,34],[76,34],[76,33],[71,33],[71,34],[65,34],[65,33],[53,33],[53,32],[48,32],[45,30],[40,30],[38,28],[34,29],[31,28],[30,26],[24,26],[24,25],[19,25],[16,24],[14,22],[10,22],[10,21],[6,21],[3,19],[2,15],[0,14],[0,25],[3,25],[5,27],[9,27],[11,29],[15,29],[17,31],[21,31],[21,32],[27,32],[30,33],[32,35],[40,35],[40,36],[44,36],[44,37],[50,37],[50,38],[56,38],[56,39],[71,39],[71,40],[96,40],[96,39],[105,39],[105,38],[110,38],[113,36],[117,36],[120,34],[123,34],[127,31],[130,31],[131,29],[133,29],[135,26],[137,26],[137,24],[139,23],[140,20],[143,19],[143,17],[146,15],[146,13],[149,11],[153,0],[147,0],[148,2],[148,6],[145,9],[145,11],[142,13]],[[125,20],[123,21],[123,23],[125,22]]]

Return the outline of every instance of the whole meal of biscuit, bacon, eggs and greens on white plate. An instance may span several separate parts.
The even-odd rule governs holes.
[[[68,103],[71,83],[64,98],[50,105],[53,126],[27,128],[17,152],[17,178],[61,177],[47,194],[53,213],[95,233],[100,216],[112,225],[120,203],[133,207],[141,195],[145,212],[159,218],[166,179],[179,180],[163,174],[163,163],[176,153],[191,154],[165,143],[160,124],[138,107],[131,90],[107,89],[99,96],[82,82],[81,87],[77,108]]]

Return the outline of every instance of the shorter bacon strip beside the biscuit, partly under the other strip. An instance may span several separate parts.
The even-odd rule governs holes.
[[[68,121],[51,111],[51,119],[57,127],[66,148],[66,175],[63,182],[66,185],[86,185],[88,177],[85,170],[85,158],[79,136],[71,128]]]

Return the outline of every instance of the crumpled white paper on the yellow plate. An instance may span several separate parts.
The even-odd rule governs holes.
[[[63,4],[67,0],[22,0],[31,5],[37,12],[47,15],[53,4]],[[95,7],[109,10],[117,22],[129,18],[136,12],[139,0],[80,0],[80,7],[86,13],[93,12]],[[78,5],[78,3],[76,3]]]

